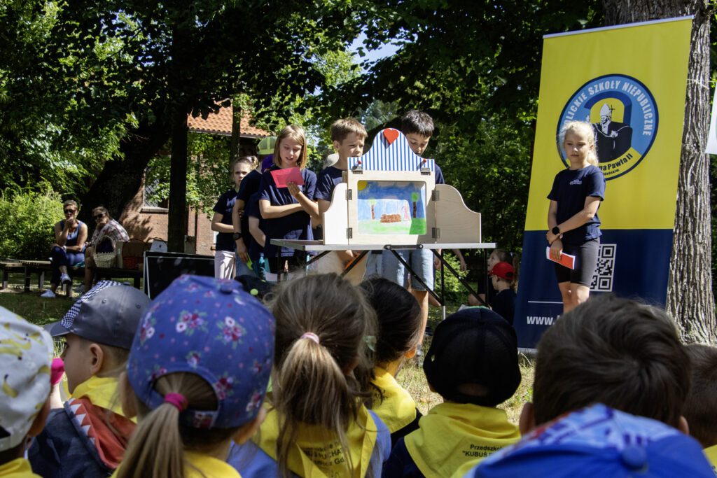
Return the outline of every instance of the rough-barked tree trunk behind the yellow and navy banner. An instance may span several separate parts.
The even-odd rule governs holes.
[[[605,24],[694,15],[688,66],[685,126],[670,258],[667,310],[687,343],[717,342],[711,272],[709,157],[710,19],[704,0],[603,0]]]

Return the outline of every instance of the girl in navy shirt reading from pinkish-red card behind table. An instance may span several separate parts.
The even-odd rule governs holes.
[[[271,239],[313,239],[311,218],[318,219],[318,204],[314,201],[316,175],[305,168],[306,162],[304,130],[288,125],[277,137],[274,166],[262,176],[259,195],[259,211],[266,219],[264,254],[272,274],[303,267],[306,253],[287,247],[277,249]],[[284,171],[289,168],[298,171]]]

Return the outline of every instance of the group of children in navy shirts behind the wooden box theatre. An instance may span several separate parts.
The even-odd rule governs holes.
[[[402,117],[401,130],[413,152],[422,156],[433,135],[433,120],[427,113],[412,110]],[[324,226],[322,214],[331,206],[334,188],[343,181],[348,158],[364,153],[367,135],[364,126],[353,118],[336,120],[331,125],[336,161],[323,168],[318,176],[306,168],[306,137],[298,125],[288,125],[277,137],[263,139],[258,158],[245,156],[232,161],[229,173],[233,187],[217,201],[212,219],[212,229],[219,233],[215,277],[230,279],[253,272],[260,279],[275,282],[276,274],[290,274],[305,267],[305,252],[277,248],[271,240],[320,239]],[[303,184],[289,182],[287,186],[278,187],[272,173],[286,168],[299,168]],[[445,183],[440,166],[435,165],[434,172],[435,182]],[[236,252],[235,267],[232,251]],[[462,254],[459,250],[455,253],[465,270]],[[385,251],[368,254],[364,277],[379,275],[404,287],[410,286],[426,325],[429,290],[433,287],[435,267],[440,264],[427,249],[399,251],[399,254],[411,264],[421,281],[412,281],[403,264],[394,254]],[[358,255],[351,250],[328,254],[315,270],[340,273]],[[360,280],[361,277],[354,282]]]

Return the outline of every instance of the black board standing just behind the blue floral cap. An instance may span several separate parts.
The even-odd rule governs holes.
[[[144,293],[150,299],[181,274],[214,277],[214,256],[158,251],[144,253]]]

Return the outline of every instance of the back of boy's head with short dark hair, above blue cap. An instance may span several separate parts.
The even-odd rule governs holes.
[[[689,390],[690,359],[667,313],[605,295],[543,334],[526,418],[540,425],[604,403],[686,431]]]

